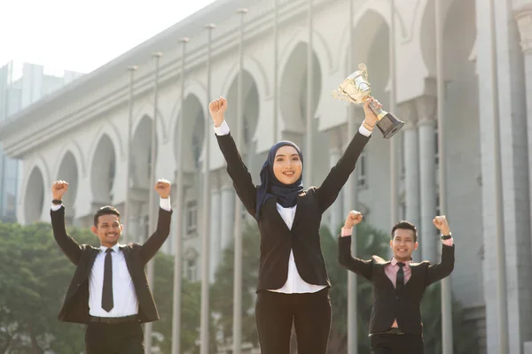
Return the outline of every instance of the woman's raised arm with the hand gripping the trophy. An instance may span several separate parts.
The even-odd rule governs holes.
[[[349,142],[348,148],[344,151],[340,160],[334,165],[325,177],[325,181],[316,190],[321,212],[325,212],[329,206],[336,200],[341,188],[348,181],[349,175],[353,172],[356,160],[364,150],[365,144],[370,140],[373,127],[377,122],[377,116],[370,109],[370,103],[374,99],[369,99],[364,103],[364,122],[358,129],[356,135]],[[375,101],[377,106],[381,107],[379,101]]]

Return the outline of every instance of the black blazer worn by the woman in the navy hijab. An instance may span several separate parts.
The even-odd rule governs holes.
[[[237,146],[229,135],[216,135],[227,172],[237,195],[253,217],[256,211],[257,187],[240,158]],[[334,202],[349,174],[355,169],[356,159],[370,137],[356,133],[343,156],[332,167],[321,187],[311,187],[297,198],[297,209],[292,230],[279,215],[277,201],[270,198],[262,205],[257,223],[261,233],[261,262],[257,291],[279,289],[286,283],[290,250],[297,270],[309,284],[331,286],[319,241],[322,214]]]

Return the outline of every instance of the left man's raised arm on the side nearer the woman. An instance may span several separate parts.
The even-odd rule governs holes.
[[[144,264],[155,256],[170,234],[170,221],[172,218],[170,189],[171,184],[167,180],[159,180],[155,183],[155,190],[160,196],[159,219],[157,220],[155,232],[140,248],[140,259]]]

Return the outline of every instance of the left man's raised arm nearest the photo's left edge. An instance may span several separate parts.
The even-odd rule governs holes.
[[[66,234],[65,207],[62,205],[62,199],[67,189],[68,183],[66,181],[55,181],[51,186],[51,195],[53,197],[50,212],[51,228],[59,248],[77,266],[82,257],[82,248],[78,242],[75,242],[72,237]]]

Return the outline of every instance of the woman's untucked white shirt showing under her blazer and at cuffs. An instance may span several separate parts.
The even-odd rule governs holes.
[[[228,135],[230,132],[229,126],[223,120],[223,123],[220,127],[215,127],[216,135]],[[365,136],[370,136],[372,132],[360,126],[358,132]],[[278,213],[285,220],[286,227],[292,230],[293,218],[295,216],[295,209],[297,205],[289,208],[284,208],[282,205],[277,204]],[[270,291],[284,293],[284,294],[301,294],[301,293],[316,293],[321,289],[326,288],[325,285],[314,285],[309,284],[307,281],[303,281],[300,273],[297,271],[297,266],[295,265],[295,259],[293,258],[293,250],[290,250],[290,257],[288,258],[288,275],[286,277],[286,283],[280,289],[269,289]]]

